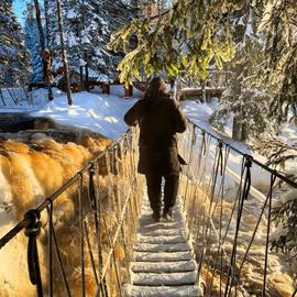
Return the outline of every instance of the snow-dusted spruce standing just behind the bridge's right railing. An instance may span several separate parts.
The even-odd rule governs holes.
[[[232,18],[237,54],[226,66],[231,75],[220,105],[211,117],[212,124],[221,130],[226,121],[233,117],[232,138],[239,141],[274,127],[268,119],[273,88],[265,88],[261,79],[264,37],[256,32],[261,21],[257,15],[256,8],[244,6]]]

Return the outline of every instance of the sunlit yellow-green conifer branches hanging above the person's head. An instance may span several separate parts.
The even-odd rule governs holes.
[[[177,76],[182,70],[205,79],[211,61],[221,68],[234,55],[228,18],[231,9],[237,8],[229,1],[183,0],[174,1],[163,13],[133,20],[109,44],[127,54],[119,65],[121,80],[132,84],[141,72]]]

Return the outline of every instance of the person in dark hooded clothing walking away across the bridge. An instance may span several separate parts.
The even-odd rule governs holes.
[[[162,217],[166,221],[174,221],[173,207],[178,191],[180,164],[186,164],[178,155],[176,133],[185,132],[187,127],[184,114],[170,98],[162,78],[152,79],[144,98],[125,113],[124,121],[129,125],[140,127],[138,170],[146,178],[152,217],[156,222],[161,219],[164,178]]]

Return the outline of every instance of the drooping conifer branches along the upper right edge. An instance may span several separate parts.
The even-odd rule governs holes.
[[[264,2],[260,30],[265,33],[266,85],[275,84],[278,90],[271,105],[271,114],[278,123],[292,111],[297,119],[297,10],[295,0]]]

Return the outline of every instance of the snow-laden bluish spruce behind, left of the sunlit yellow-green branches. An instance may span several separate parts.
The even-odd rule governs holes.
[[[53,0],[51,0],[53,1]],[[51,2],[50,2],[50,6]],[[53,7],[53,6],[52,6]],[[92,70],[112,76],[121,56],[107,50],[111,33],[127,23],[134,10],[120,0],[69,0],[63,6],[65,46],[70,69],[88,66]],[[50,9],[52,20],[55,8]],[[59,41],[55,37],[56,23],[52,22],[51,47],[54,69],[61,67]]]

